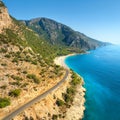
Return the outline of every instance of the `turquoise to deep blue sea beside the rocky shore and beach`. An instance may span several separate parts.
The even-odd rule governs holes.
[[[120,46],[70,56],[65,63],[85,81],[83,120],[120,120]]]

